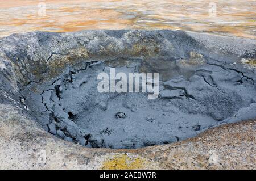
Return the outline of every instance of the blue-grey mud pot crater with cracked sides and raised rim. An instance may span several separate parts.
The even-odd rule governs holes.
[[[0,101],[92,148],[184,140],[256,117],[256,41],[182,31],[33,32],[0,40]],[[159,96],[100,93],[97,75],[159,73]]]

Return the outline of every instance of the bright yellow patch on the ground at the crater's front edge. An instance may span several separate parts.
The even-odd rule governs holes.
[[[103,163],[101,169],[106,170],[126,170],[126,169],[143,169],[147,161],[141,157],[129,156],[127,154],[114,155]]]

